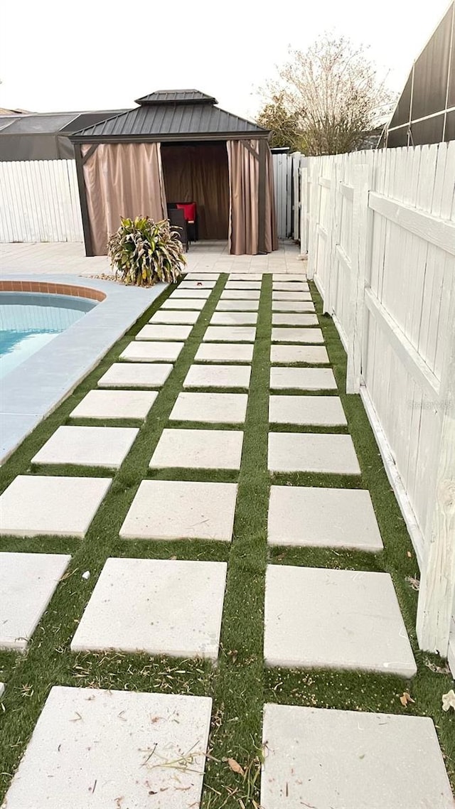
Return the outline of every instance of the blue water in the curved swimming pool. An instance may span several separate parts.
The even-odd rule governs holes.
[[[29,292],[0,293],[0,379],[69,328],[96,301]]]

